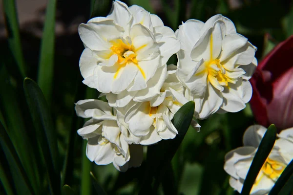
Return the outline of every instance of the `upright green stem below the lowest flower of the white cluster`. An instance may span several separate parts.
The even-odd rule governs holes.
[[[81,195],[91,195],[90,174],[91,162],[85,155],[87,141],[83,141],[82,150],[82,177],[81,177]]]

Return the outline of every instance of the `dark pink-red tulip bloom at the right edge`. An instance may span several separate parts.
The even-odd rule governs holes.
[[[250,82],[250,101],[256,121],[278,129],[293,127],[293,36],[275,48],[259,63]]]

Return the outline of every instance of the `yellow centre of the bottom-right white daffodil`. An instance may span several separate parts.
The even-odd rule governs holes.
[[[263,164],[260,172],[256,177],[253,187],[259,184],[263,176],[267,176],[273,181],[276,181],[285,168],[286,165],[284,163],[267,158],[266,162]]]

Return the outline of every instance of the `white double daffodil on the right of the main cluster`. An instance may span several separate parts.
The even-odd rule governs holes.
[[[216,111],[237,112],[251,99],[249,79],[257,65],[256,47],[228,18],[211,17],[206,23],[188,20],[179,26],[177,76],[186,97],[195,102],[195,116],[207,118]]]

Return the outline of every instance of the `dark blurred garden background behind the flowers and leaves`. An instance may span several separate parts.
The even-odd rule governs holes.
[[[234,22],[237,32],[258,48],[256,58],[259,62],[274,45],[284,41],[293,31],[291,0],[123,1],[128,6],[138,4],[150,13],[157,14],[174,31],[181,22],[188,19],[206,22],[211,16],[220,13]],[[82,84],[79,58],[84,46],[77,28],[91,17],[106,16],[112,1],[96,0],[94,4],[92,0],[56,2],[55,40],[51,40],[55,43],[54,77],[52,98],[48,100],[48,104],[57,130],[60,161],[69,159],[64,184],[68,184],[76,194],[95,194],[87,174],[91,171],[108,194],[137,194],[139,169],[132,168],[126,173],[119,173],[112,164],[97,166],[91,163],[85,157],[85,142],[76,133],[84,121],[75,116],[74,103],[80,99],[98,98],[99,95],[97,91],[87,89]],[[26,66],[25,76],[36,81],[47,0],[16,0],[16,5]],[[94,14],[91,14],[93,9]],[[7,25],[4,22],[2,2],[0,13],[0,109],[8,126],[21,121],[29,129],[33,127],[32,120],[22,98],[23,79],[19,76],[20,72],[17,71],[9,49],[7,38],[11,29],[5,27]],[[173,56],[168,64],[176,64],[176,61],[176,56]],[[12,109],[19,112],[14,117],[8,117]],[[234,192],[229,186],[229,175],[223,169],[224,156],[230,150],[242,146],[243,132],[250,125],[257,124],[251,107],[248,104],[247,108],[238,113],[214,114],[209,119],[199,121],[199,124],[202,126],[201,131],[197,132],[190,127],[172,160],[178,192],[182,195],[232,195]],[[8,167],[2,150],[0,158],[2,167]],[[62,163],[60,166],[63,166]],[[6,172],[9,173],[9,170]],[[43,182],[42,185],[47,184]],[[0,194],[5,194],[1,183]],[[47,194],[46,189],[44,194]],[[159,194],[164,194],[162,186],[159,187]]]

